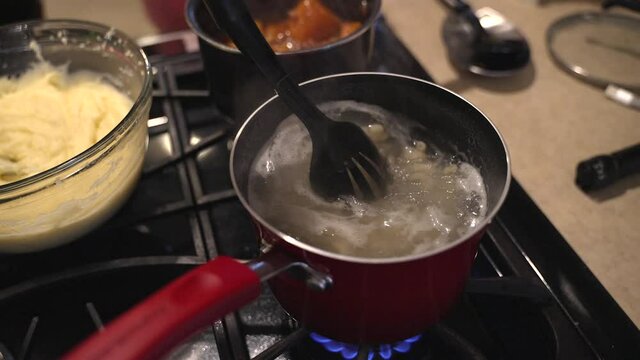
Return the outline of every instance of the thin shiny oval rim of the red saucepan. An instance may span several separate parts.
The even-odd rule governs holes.
[[[334,260],[345,261],[345,262],[349,262],[349,263],[360,263],[360,264],[394,264],[394,263],[410,262],[410,261],[416,261],[416,260],[428,258],[428,257],[431,257],[433,255],[443,253],[443,252],[445,252],[445,251],[447,251],[447,250],[449,250],[451,248],[454,248],[454,247],[456,247],[456,246],[458,246],[458,245],[470,240],[475,235],[477,235],[479,232],[481,232],[484,228],[486,228],[486,226],[491,223],[491,221],[495,217],[496,213],[502,207],[502,204],[504,203],[504,200],[507,197],[507,193],[509,192],[509,187],[510,187],[510,184],[511,184],[511,160],[510,160],[510,156],[509,156],[509,149],[507,148],[507,145],[506,145],[506,143],[504,141],[504,137],[502,136],[500,131],[498,131],[498,128],[495,126],[495,124],[482,111],[480,111],[476,106],[474,106],[471,102],[469,102],[468,100],[466,100],[462,96],[460,96],[460,95],[454,93],[453,91],[451,91],[449,89],[446,89],[446,88],[444,88],[444,87],[442,87],[442,86],[440,86],[438,84],[434,84],[434,83],[432,83],[430,81],[427,81],[427,80],[424,80],[424,79],[419,79],[419,78],[412,77],[412,76],[399,75],[399,74],[386,73],[386,72],[351,72],[351,73],[333,74],[333,75],[327,75],[327,76],[315,78],[315,79],[312,79],[312,80],[305,81],[305,82],[301,83],[300,85],[304,86],[306,84],[319,82],[319,81],[322,81],[322,80],[325,80],[325,79],[338,78],[338,77],[349,77],[349,76],[396,77],[396,78],[403,78],[403,79],[408,79],[408,80],[412,80],[412,81],[418,81],[418,82],[421,82],[421,83],[426,84],[428,86],[435,86],[435,87],[437,87],[437,88],[439,88],[441,90],[444,90],[444,91],[448,92],[451,95],[454,95],[454,96],[458,97],[459,99],[461,99],[462,101],[467,103],[469,106],[471,106],[473,109],[475,109],[477,112],[479,112],[484,117],[484,119],[487,122],[489,122],[489,124],[493,128],[493,130],[495,131],[496,135],[498,136],[498,139],[500,139],[500,142],[502,143],[502,146],[503,146],[504,151],[505,151],[505,159],[504,159],[504,161],[505,161],[505,164],[507,166],[506,179],[505,179],[505,182],[504,182],[504,187],[502,189],[502,193],[500,194],[500,197],[499,197],[496,205],[493,207],[493,209],[491,209],[491,211],[485,216],[485,218],[472,231],[469,231],[464,236],[459,237],[455,241],[452,241],[452,242],[446,244],[445,246],[438,247],[438,248],[435,248],[435,249],[432,249],[430,251],[426,251],[426,252],[423,252],[423,253],[420,253],[420,254],[412,254],[412,255],[389,257],[389,258],[356,257],[356,256],[333,253],[333,252],[330,252],[330,251],[327,251],[327,250],[323,250],[323,249],[311,246],[311,245],[309,245],[309,244],[307,244],[305,242],[302,242],[300,240],[297,240],[294,237],[292,237],[292,236],[290,236],[290,235],[278,230],[276,227],[271,225],[269,222],[267,222],[265,219],[263,219],[257,213],[257,211],[255,211],[253,209],[253,207],[251,207],[251,205],[249,205],[249,202],[247,201],[247,199],[245,199],[245,197],[242,195],[242,192],[239,190],[238,184],[236,182],[236,176],[235,176],[235,172],[234,172],[234,167],[233,167],[234,157],[235,157],[235,153],[236,153],[236,149],[237,149],[237,143],[238,143],[240,137],[243,136],[243,131],[244,131],[245,127],[254,119],[256,114],[258,114],[264,107],[266,107],[267,105],[269,105],[271,102],[275,101],[278,98],[278,95],[275,95],[272,98],[270,98],[269,100],[265,101],[251,115],[249,115],[247,120],[242,124],[242,126],[238,130],[238,133],[236,134],[236,137],[233,140],[233,147],[231,148],[231,155],[230,155],[230,161],[229,161],[229,169],[230,169],[230,172],[231,172],[231,183],[233,184],[233,188],[234,188],[234,190],[236,192],[236,195],[238,196],[238,199],[242,203],[242,206],[247,211],[249,211],[251,216],[254,219],[256,219],[257,221],[259,221],[261,225],[263,225],[267,229],[269,229],[269,231],[271,231],[273,234],[277,235],[282,240],[286,241],[287,243],[289,243],[289,244],[291,244],[291,245],[293,245],[293,246],[295,246],[295,247],[297,247],[299,249],[314,253],[316,255],[327,257],[327,258],[330,258],[330,259],[334,259]]]

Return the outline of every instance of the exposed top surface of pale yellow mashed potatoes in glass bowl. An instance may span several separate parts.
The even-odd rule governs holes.
[[[102,139],[133,101],[91,72],[39,63],[0,77],[0,185],[71,159]]]

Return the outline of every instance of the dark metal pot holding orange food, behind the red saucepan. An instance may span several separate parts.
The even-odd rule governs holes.
[[[274,11],[271,7],[258,6],[260,1],[246,2],[255,19]],[[363,3],[366,4],[365,12],[355,11],[362,8]],[[341,6],[335,7],[336,13],[361,21],[362,27],[358,31],[318,48],[276,53],[278,60],[296,82],[333,73],[367,70],[373,53],[373,27],[380,6],[381,0],[341,0]],[[238,126],[241,125],[258,105],[275,95],[273,88],[249,58],[238,49],[225,45],[223,32],[201,0],[188,1],[186,18],[198,35],[212,100],[222,112],[238,120]]]

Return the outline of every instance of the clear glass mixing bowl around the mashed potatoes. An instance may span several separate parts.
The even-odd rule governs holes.
[[[151,106],[149,62],[122,32],[73,21],[34,21],[0,27],[0,77],[44,59],[89,70],[134,104],[96,144],[62,164],[0,186],[0,253],[57,246],[86,234],[126,201],[140,177]]]

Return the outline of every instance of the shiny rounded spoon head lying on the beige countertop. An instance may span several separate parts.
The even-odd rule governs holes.
[[[502,14],[491,9],[473,11],[463,0],[441,0],[452,10],[443,37],[453,64],[484,76],[503,77],[522,70],[530,61],[529,44]]]

